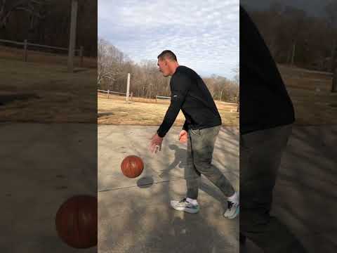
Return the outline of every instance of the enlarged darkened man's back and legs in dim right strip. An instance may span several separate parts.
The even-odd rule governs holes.
[[[240,242],[247,237],[264,252],[305,252],[288,228],[270,216],[272,190],[294,120],[277,65],[240,6]]]

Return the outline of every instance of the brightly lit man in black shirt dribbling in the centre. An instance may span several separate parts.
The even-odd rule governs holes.
[[[214,144],[220,131],[221,117],[216,104],[199,75],[188,67],[178,64],[176,55],[169,50],[158,56],[159,71],[164,77],[171,76],[171,105],[157,134],[150,143],[150,150],[161,150],[161,142],[176,120],[178,112],[185,115],[185,124],[179,141],[187,142],[187,195],[180,201],[171,201],[179,211],[199,212],[197,202],[201,174],[214,183],[227,197],[228,208],[224,216],[234,219],[239,213],[239,196],[220,170],[211,164]]]

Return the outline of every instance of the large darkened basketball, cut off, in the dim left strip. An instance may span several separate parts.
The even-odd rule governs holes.
[[[74,248],[97,245],[97,198],[88,195],[70,197],[58,209],[56,231],[63,242]]]

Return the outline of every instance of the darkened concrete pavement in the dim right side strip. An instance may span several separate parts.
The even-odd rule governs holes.
[[[272,214],[310,253],[337,252],[336,143],[336,125],[295,126],[279,170]],[[242,252],[263,253],[250,241]]]

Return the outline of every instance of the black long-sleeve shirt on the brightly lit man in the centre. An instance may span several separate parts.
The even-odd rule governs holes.
[[[180,110],[185,115],[184,130],[204,129],[221,125],[216,103],[199,74],[188,67],[178,66],[171,77],[171,104],[157,131],[164,137]]]

